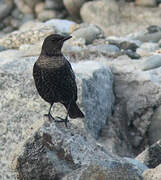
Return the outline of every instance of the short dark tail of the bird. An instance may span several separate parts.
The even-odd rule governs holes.
[[[66,107],[66,109],[68,109],[68,105],[67,104],[64,104],[64,106]],[[69,113],[69,117],[70,118],[84,118],[84,114],[79,109],[79,107],[76,104],[76,102],[72,102],[70,104],[70,108],[68,110],[68,113]]]

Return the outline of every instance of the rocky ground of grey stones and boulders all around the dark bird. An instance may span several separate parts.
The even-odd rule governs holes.
[[[160,2],[2,2],[0,179],[161,179]],[[43,116],[32,77],[51,33],[72,35],[63,53],[85,118],[68,128]]]

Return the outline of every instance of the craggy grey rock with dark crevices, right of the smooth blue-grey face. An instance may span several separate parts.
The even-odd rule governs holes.
[[[145,137],[152,115],[161,102],[160,68],[158,71],[143,72],[140,70],[141,62],[130,61],[126,56],[120,56],[112,62],[107,61],[107,64],[114,75],[116,101],[114,115],[102,130],[101,142],[114,151],[120,149],[117,146],[121,146],[129,151],[132,148],[136,153],[139,148],[141,152],[144,145],[148,144]],[[129,145],[126,147],[122,144],[121,139]],[[116,154],[121,155],[122,152],[123,150]]]

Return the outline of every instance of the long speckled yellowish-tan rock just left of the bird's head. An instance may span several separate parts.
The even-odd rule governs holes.
[[[7,48],[19,48],[22,44],[34,44],[44,40],[49,34],[55,33],[55,29],[50,26],[39,27],[30,30],[14,31],[0,39],[0,45]]]

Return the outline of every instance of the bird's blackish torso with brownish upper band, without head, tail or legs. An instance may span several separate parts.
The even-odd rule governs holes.
[[[47,102],[68,103],[77,100],[75,75],[63,55],[40,55],[33,68],[36,88]]]

